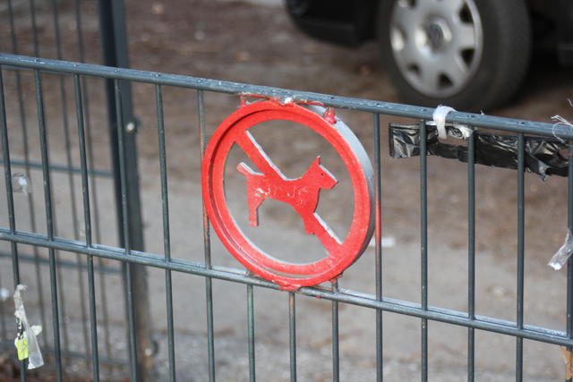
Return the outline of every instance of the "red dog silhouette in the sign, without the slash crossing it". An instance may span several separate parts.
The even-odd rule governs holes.
[[[321,157],[316,157],[303,176],[288,179],[270,166],[271,174],[256,173],[251,167],[241,162],[236,166],[244,174],[247,183],[247,203],[249,207],[249,224],[259,225],[258,208],[265,199],[276,199],[290,204],[304,222],[307,234],[314,233],[312,219],[319,203],[321,189],[331,189],[338,183],[329,170],[321,166]]]

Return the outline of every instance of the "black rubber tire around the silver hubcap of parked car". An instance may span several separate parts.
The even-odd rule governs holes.
[[[417,0],[430,1],[430,0]],[[501,106],[519,88],[532,49],[531,25],[524,0],[474,0],[483,27],[482,56],[466,86],[447,97],[430,97],[406,81],[390,43],[390,18],[398,0],[381,0],[378,38],[382,62],[403,102],[419,106],[452,106],[464,111],[484,111]]]

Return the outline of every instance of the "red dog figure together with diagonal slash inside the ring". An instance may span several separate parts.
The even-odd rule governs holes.
[[[341,242],[337,235],[316,213],[321,188],[329,189],[337,183],[336,178],[320,165],[320,157],[316,158],[303,176],[288,179],[272,163],[250,132],[245,131],[236,137],[235,142],[262,172],[255,173],[244,163],[237,166],[247,179],[251,225],[258,225],[256,209],[264,199],[278,199],[295,209],[303,219],[306,233],[316,235],[329,253],[338,250]]]

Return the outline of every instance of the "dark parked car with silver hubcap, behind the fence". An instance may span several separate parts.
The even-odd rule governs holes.
[[[305,33],[356,47],[376,39],[409,104],[483,110],[523,81],[533,48],[573,64],[570,0],[286,0]]]

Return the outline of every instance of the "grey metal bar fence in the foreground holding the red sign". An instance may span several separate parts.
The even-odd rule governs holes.
[[[32,248],[47,249],[49,250],[49,266],[50,266],[50,280],[51,280],[51,298],[52,298],[52,322],[53,322],[53,332],[54,332],[54,353],[55,353],[55,364],[58,370],[58,378],[63,378],[62,371],[62,345],[60,343],[60,326],[62,325],[60,321],[60,313],[57,308],[58,296],[62,290],[62,284],[58,284],[57,269],[64,266],[64,264],[58,264],[56,262],[55,253],[56,250],[71,252],[78,254],[81,259],[88,259],[87,273],[89,276],[89,296],[90,301],[88,301],[89,315],[90,315],[90,344],[91,352],[90,361],[93,365],[93,376],[98,379],[99,372],[99,358],[98,358],[98,332],[97,332],[97,319],[102,314],[103,311],[97,310],[95,305],[96,295],[95,290],[95,277],[94,277],[94,258],[95,259],[111,259],[121,263],[130,264],[140,264],[146,267],[157,267],[165,269],[166,271],[166,283],[167,283],[167,314],[168,319],[172,322],[172,304],[171,300],[171,284],[170,284],[170,274],[172,271],[184,272],[197,276],[204,276],[206,281],[206,295],[208,303],[208,360],[210,365],[210,378],[214,379],[216,374],[216,352],[214,351],[214,333],[213,333],[213,312],[212,312],[212,291],[211,291],[211,280],[212,279],[222,279],[227,281],[232,281],[235,283],[246,284],[247,285],[247,301],[248,301],[248,352],[249,352],[249,372],[250,378],[253,380],[255,378],[255,352],[254,352],[254,322],[253,322],[253,303],[252,295],[254,287],[263,287],[270,289],[278,289],[278,285],[270,283],[268,281],[262,280],[258,277],[251,276],[240,269],[228,269],[223,267],[212,266],[210,262],[210,236],[209,236],[209,223],[207,218],[204,216],[205,222],[205,260],[204,262],[193,262],[184,259],[174,259],[170,256],[170,235],[169,235],[169,208],[167,201],[167,174],[166,174],[166,146],[164,140],[164,125],[163,125],[163,103],[162,103],[162,91],[166,86],[181,87],[186,89],[195,89],[198,92],[198,109],[200,120],[198,125],[201,127],[201,146],[204,145],[206,140],[205,137],[205,112],[204,112],[204,92],[223,92],[231,94],[257,94],[260,96],[265,96],[269,98],[292,98],[294,100],[304,100],[319,102],[321,104],[340,108],[349,108],[354,110],[359,110],[364,113],[372,114],[373,127],[373,141],[374,148],[380,148],[380,130],[381,126],[379,124],[379,115],[398,115],[406,116],[410,118],[420,119],[420,131],[422,134],[426,131],[425,121],[432,119],[432,109],[424,107],[415,106],[404,106],[397,104],[389,104],[377,101],[367,101],[363,99],[354,98],[340,98],[334,96],[327,96],[321,94],[296,92],[285,89],[272,89],[265,87],[255,87],[252,85],[245,85],[233,82],[225,81],[212,81],[197,79],[192,77],[178,76],[178,75],[168,75],[164,73],[157,72],[141,72],[129,69],[116,69],[98,65],[91,64],[75,64],[56,60],[47,60],[39,58],[30,58],[26,56],[17,55],[0,55],[0,64],[2,64],[2,75],[6,77],[9,72],[16,70],[27,70],[31,71],[30,74],[33,75],[35,92],[36,92],[36,103],[38,108],[38,128],[40,137],[40,148],[42,157],[42,173],[43,173],[43,183],[44,186],[44,198],[47,214],[47,231],[46,233],[41,233],[39,231],[34,231],[33,229],[27,231],[21,231],[19,226],[16,224],[16,216],[18,215],[14,210],[13,203],[13,189],[12,189],[12,176],[13,172],[11,166],[6,166],[6,164],[11,163],[11,157],[9,149],[10,135],[12,134],[13,128],[9,126],[9,119],[6,117],[6,98],[11,98],[16,95],[5,94],[2,91],[2,98],[0,98],[0,115],[2,116],[2,132],[3,132],[3,148],[4,148],[4,174],[5,174],[5,188],[7,194],[7,207],[9,216],[9,226],[0,229],[0,238],[5,242],[11,243],[11,255],[13,261],[13,276],[14,284],[21,283],[20,278],[20,267],[21,258],[19,253],[21,251],[19,248],[22,245],[32,246]],[[75,112],[77,116],[77,129],[80,143],[80,158],[81,166],[79,172],[81,174],[81,200],[83,206],[83,220],[85,229],[85,239],[79,240],[78,238],[64,238],[56,235],[55,225],[54,225],[54,205],[52,199],[54,198],[53,183],[51,180],[54,175],[50,174],[48,171],[48,146],[46,140],[46,125],[43,118],[44,114],[44,93],[46,89],[42,86],[43,78],[51,75],[51,73],[60,73],[66,76],[70,76],[73,79],[74,86],[74,96],[76,100]],[[127,155],[127,150],[125,148],[124,136],[128,132],[126,129],[118,130],[118,145],[120,152],[120,174],[122,177],[122,208],[124,210],[124,220],[123,220],[123,232],[124,232],[124,247],[114,247],[107,246],[99,243],[94,236],[94,229],[92,222],[94,222],[91,208],[92,198],[93,198],[93,187],[90,187],[90,167],[88,166],[88,149],[86,148],[85,140],[85,125],[84,125],[84,103],[81,101],[83,99],[82,79],[85,77],[98,77],[104,79],[111,79],[115,84],[115,95],[117,102],[121,102],[121,91],[120,86],[121,81],[132,81],[132,82],[145,82],[155,85],[155,97],[157,101],[157,131],[158,131],[158,148],[160,153],[160,163],[161,163],[161,195],[162,195],[162,211],[163,211],[163,235],[165,250],[162,255],[154,254],[149,252],[141,252],[133,250],[130,243],[130,219],[129,219],[129,205],[127,200],[127,193],[125,191],[126,181],[126,171],[125,171],[125,156]],[[4,89],[4,88],[3,88]],[[117,107],[118,115],[117,120],[119,125],[125,127],[124,115],[122,115],[121,107]],[[496,318],[481,317],[475,315],[475,172],[474,163],[472,158],[475,156],[473,149],[473,141],[470,139],[468,142],[469,150],[469,164],[467,167],[467,184],[468,184],[468,196],[469,196],[469,206],[468,206],[468,224],[469,224],[469,248],[468,248],[468,262],[469,262],[469,275],[467,284],[467,298],[468,298],[468,310],[467,311],[453,311],[440,309],[439,307],[433,307],[428,304],[427,301],[427,172],[426,172],[426,156],[424,155],[425,150],[421,150],[420,157],[420,183],[421,183],[421,195],[420,195],[420,206],[422,211],[422,221],[420,225],[420,230],[422,234],[422,246],[421,246],[421,303],[414,303],[408,301],[396,301],[393,299],[385,298],[383,291],[381,290],[381,168],[380,168],[380,149],[375,150],[374,164],[376,173],[376,198],[377,198],[377,226],[376,226],[376,291],[375,293],[363,293],[358,291],[350,291],[342,288],[338,288],[337,284],[333,284],[332,289],[324,289],[320,287],[304,287],[295,292],[289,293],[289,327],[290,327],[290,376],[292,380],[296,378],[296,315],[295,315],[295,296],[307,295],[312,297],[319,297],[326,301],[332,301],[332,364],[333,364],[333,379],[338,379],[338,304],[353,304],[361,306],[366,309],[372,309],[376,311],[376,320],[372,325],[376,326],[376,369],[378,378],[382,377],[382,315],[383,312],[392,312],[398,314],[404,314],[416,318],[421,318],[422,321],[422,341],[421,341],[421,354],[422,354],[422,378],[426,380],[428,378],[427,370],[427,331],[428,331],[428,321],[440,321],[443,323],[448,323],[456,326],[467,327],[468,337],[468,379],[472,380],[474,376],[474,333],[475,330],[485,330],[494,333],[499,333],[502,335],[511,335],[516,337],[516,376],[520,380],[522,378],[521,370],[523,367],[522,363],[522,349],[523,340],[535,340],[541,341],[548,344],[558,344],[562,346],[567,346],[568,348],[573,345],[573,339],[571,338],[571,303],[570,298],[573,294],[568,289],[568,325],[565,332],[551,330],[544,327],[533,327],[524,324],[523,320],[523,304],[524,304],[524,134],[533,133],[535,135],[542,136],[553,136],[553,134],[559,134],[563,139],[572,139],[573,134],[569,132],[568,129],[564,127],[554,127],[551,124],[544,123],[531,123],[527,121],[519,121],[513,119],[492,117],[486,115],[472,115],[466,113],[452,113],[448,118],[449,122],[453,123],[464,123],[475,128],[490,128],[507,132],[517,132],[519,138],[519,152],[518,156],[518,198],[517,198],[517,217],[518,217],[518,266],[517,266],[517,322],[509,322],[505,320],[500,320]],[[422,139],[422,142],[424,140]],[[423,144],[423,143],[422,143]],[[17,163],[15,164],[17,165]],[[13,165],[14,166],[14,165]],[[569,162],[569,175],[573,173],[573,161]],[[93,174],[92,174],[93,175]],[[573,202],[573,184],[571,181],[573,176],[569,176],[569,208],[568,216],[569,223],[572,221],[573,208],[571,208],[571,203]],[[568,285],[570,286],[570,281],[572,279],[573,272],[571,272],[573,267],[569,267],[568,271]],[[57,286],[60,286],[58,289]],[[102,289],[103,291],[103,289]],[[130,346],[129,354],[132,364],[131,376],[133,380],[138,379],[138,370],[134,367],[135,365],[135,342],[136,342],[136,331],[133,324],[133,304],[128,301],[128,313],[130,319],[128,321],[129,334],[130,334]],[[364,325],[366,325],[364,323]],[[173,331],[173,325],[169,325],[169,330],[167,332],[168,343],[169,343],[169,371],[170,378],[175,379],[175,353],[174,353],[174,341],[175,335]],[[23,366],[22,366],[23,368]],[[22,369],[23,371],[23,369]]]

